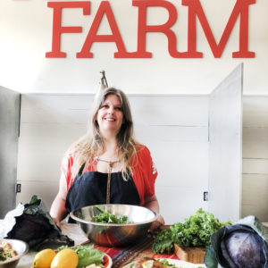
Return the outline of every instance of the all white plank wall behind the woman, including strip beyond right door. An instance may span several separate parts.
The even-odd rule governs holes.
[[[181,221],[198,207],[207,208],[202,193],[208,176],[208,97],[177,96],[171,101],[172,96],[162,96],[164,101],[155,107],[156,100],[148,105],[148,97],[130,96],[137,137],[155,160],[159,172],[155,190],[163,215],[168,223]],[[87,129],[90,99],[92,95],[22,95],[18,163],[22,187],[17,202],[29,202],[38,194],[50,207],[64,152]],[[166,109],[165,103],[171,105]],[[268,99],[244,96],[243,104],[241,213],[268,222]],[[170,113],[174,106],[178,113]]]

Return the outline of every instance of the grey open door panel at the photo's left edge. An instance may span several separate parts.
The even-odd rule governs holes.
[[[16,200],[21,95],[0,87],[0,218]]]

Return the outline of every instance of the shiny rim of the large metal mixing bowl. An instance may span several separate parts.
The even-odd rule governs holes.
[[[97,205],[97,204],[96,204]],[[126,205],[126,204],[100,204],[100,205]],[[86,208],[86,207],[91,207],[91,206],[95,206],[95,205],[87,205],[87,206],[84,206],[84,207],[80,207],[78,209],[76,209],[75,211],[81,209],[81,208]],[[86,220],[83,220],[83,219],[80,219],[79,217],[75,216],[73,213],[74,212],[71,212],[70,213],[70,216],[73,220],[77,221],[77,222],[80,222],[80,223],[86,223],[86,224],[94,224],[96,226],[114,226],[114,227],[117,227],[117,226],[136,226],[136,225],[140,225],[140,224],[146,224],[146,223],[150,223],[150,222],[155,222],[158,217],[159,217],[159,213],[145,207],[145,206],[142,206],[142,205],[128,205],[128,206],[138,206],[138,207],[142,207],[142,208],[145,208],[147,210],[149,210],[150,212],[152,212],[153,214],[155,214],[155,217],[153,219],[150,219],[150,220],[147,220],[147,221],[144,221],[144,222],[130,222],[130,223],[105,223],[105,222],[91,222],[91,221],[86,221]]]

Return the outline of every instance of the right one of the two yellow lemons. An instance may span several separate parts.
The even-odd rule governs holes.
[[[50,268],[76,268],[78,255],[71,248],[64,248],[57,255],[50,265]]]

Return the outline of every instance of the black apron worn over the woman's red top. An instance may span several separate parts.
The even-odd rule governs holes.
[[[68,191],[65,207],[73,212],[88,205],[106,204],[107,173],[85,172],[83,166]],[[110,204],[140,205],[138,189],[129,176],[123,180],[121,172],[111,173]]]

